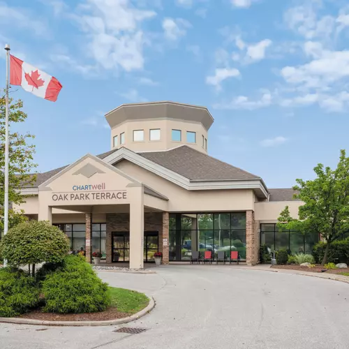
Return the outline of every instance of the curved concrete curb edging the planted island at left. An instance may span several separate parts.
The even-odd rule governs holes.
[[[142,318],[147,315],[151,310],[154,309],[155,301],[154,298],[147,295],[149,298],[149,304],[131,316],[127,318],[115,319],[115,320],[103,320],[103,321],[47,321],[47,320],[35,320],[27,318],[0,318],[0,322],[20,324],[20,325],[42,325],[42,326],[112,326],[121,325],[126,322],[131,322]]]

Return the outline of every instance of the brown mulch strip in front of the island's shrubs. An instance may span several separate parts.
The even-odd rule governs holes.
[[[83,313],[83,314],[59,314],[59,313],[43,313],[40,309],[20,315],[19,318],[45,320],[45,321],[103,321],[126,318],[131,314],[120,313],[117,308],[109,308],[99,313]]]

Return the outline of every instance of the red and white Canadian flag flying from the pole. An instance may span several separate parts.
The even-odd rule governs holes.
[[[10,54],[10,84],[21,85],[25,91],[55,102],[62,85],[51,75]]]

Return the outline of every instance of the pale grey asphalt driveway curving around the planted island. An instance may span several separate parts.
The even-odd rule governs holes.
[[[156,307],[118,327],[0,324],[0,347],[123,349],[346,349],[349,285],[215,265],[170,265],[156,274],[99,272],[112,286],[146,292]],[[120,326],[119,326],[120,327]]]

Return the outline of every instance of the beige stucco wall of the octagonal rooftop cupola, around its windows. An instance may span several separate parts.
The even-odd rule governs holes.
[[[160,128],[160,140],[149,140],[149,133],[151,129]],[[181,142],[172,142],[171,132],[173,130],[181,130]],[[144,141],[133,142],[133,131],[144,130]],[[196,143],[186,142],[186,131],[196,133]],[[125,143],[120,144],[120,134],[125,133]],[[130,120],[125,121],[112,128],[110,138],[110,149],[113,149],[114,135],[118,135],[118,146],[126,147],[133,151],[160,151],[172,149],[179,145],[186,144],[198,151],[206,153],[207,151],[202,147],[202,135],[207,139],[207,130],[199,122],[193,121],[178,121],[172,119],[147,119],[147,120]],[[207,141],[208,142],[208,141]]]

